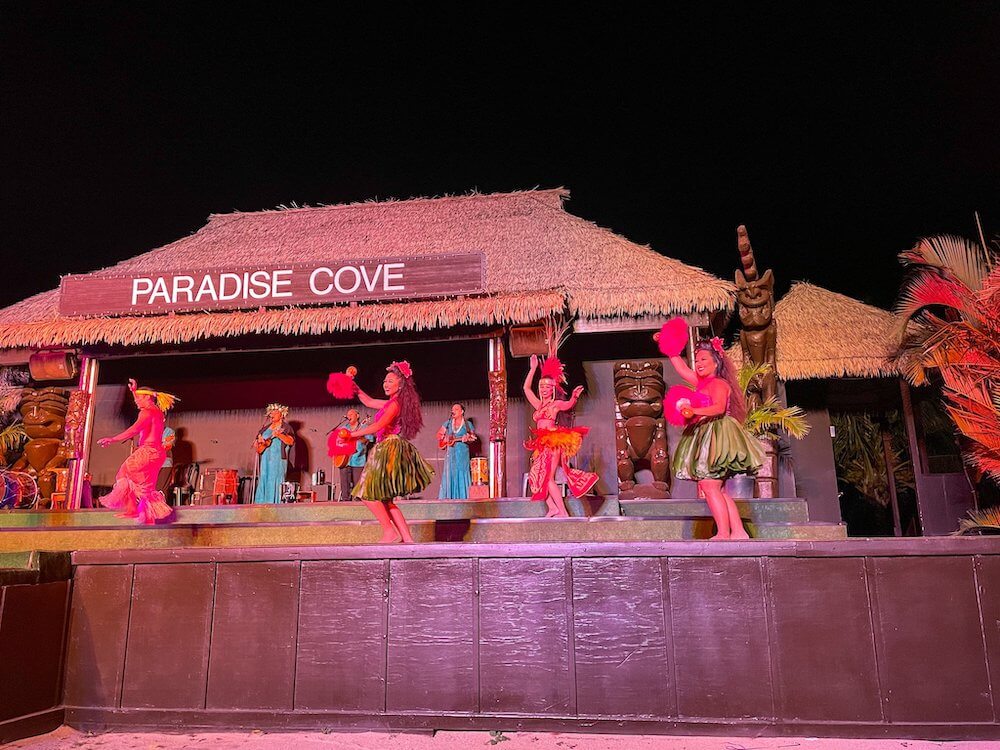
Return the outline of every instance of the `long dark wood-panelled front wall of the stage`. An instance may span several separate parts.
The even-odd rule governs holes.
[[[1000,738],[1000,545],[73,555],[66,722]]]

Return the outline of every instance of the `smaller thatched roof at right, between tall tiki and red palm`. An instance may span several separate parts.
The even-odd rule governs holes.
[[[895,316],[799,281],[774,308],[782,380],[897,377]],[[730,350],[742,361],[739,343]]]

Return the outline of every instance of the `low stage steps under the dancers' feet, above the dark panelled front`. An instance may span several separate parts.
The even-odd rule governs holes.
[[[738,501],[751,535],[761,539],[843,539],[843,524],[809,520],[804,500]],[[529,498],[406,500],[400,507],[418,542],[656,542],[707,539],[703,501],[570,498],[570,518],[542,518]],[[6,550],[151,549],[370,544],[381,529],[360,502],[282,505],[185,505],[156,526],[108,510],[0,512]]]

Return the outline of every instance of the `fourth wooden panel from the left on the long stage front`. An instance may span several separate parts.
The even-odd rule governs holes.
[[[295,707],[379,713],[385,706],[388,563],[302,563]]]

